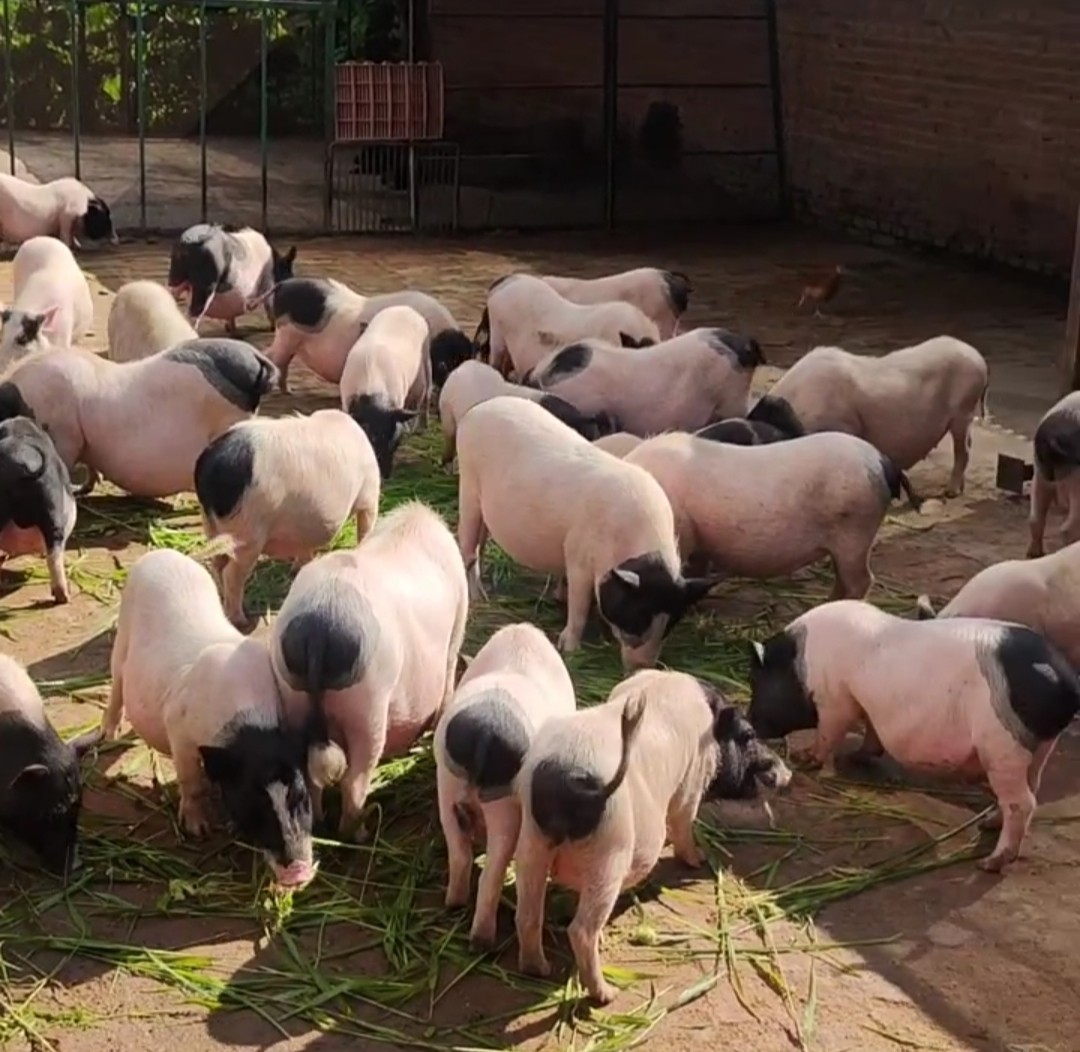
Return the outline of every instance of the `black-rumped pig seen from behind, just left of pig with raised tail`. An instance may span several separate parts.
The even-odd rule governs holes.
[[[514,781],[536,732],[576,707],[558,651],[534,624],[499,629],[469,665],[435,728],[438,817],[446,838],[446,905],[469,902],[470,836],[486,834],[484,874],[470,941],[495,944],[499,899],[517,847],[522,809]]]

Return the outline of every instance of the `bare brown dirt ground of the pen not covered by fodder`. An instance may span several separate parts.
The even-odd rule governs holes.
[[[111,294],[135,278],[163,279],[167,248],[165,243],[125,244],[84,257],[85,269],[99,285],[97,328],[91,346],[104,346]],[[1028,454],[1025,436],[1055,397],[1054,368],[1064,331],[1061,297],[1027,281],[780,228],[720,231],[707,242],[693,244],[635,243],[599,234],[507,235],[442,244],[324,240],[300,244],[298,270],[334,277],[368,293],[423,288],[445,300],[471,326],[488,283],[510,269],[584,275],[625,269],[642,260],[690,274],[694,292],[688,321],[754,333],[773,366],[789,364],[816,343],[881,352],[950,333],[980,348],[990,362],[993,422],[977,429],[968,493],[927,514],[897,512],[879,544],[875,569],[894,594],[929,592],[944,597],[980,567],[1023,555],[1026,509],[995,489],[995,461],[999,451]],[[793,305],[805,275],[836,261],[843,261],[853,272],[825,316],[797,313]],[[10,264],[0,265],[0,300],[11,294],[10,281]],[[261,320],[248,321],[249,338],[265,346],[268,334]],[[297,372],[294,386],[301,393],[301,405],[332,403],[329,387]],[[760,386],[773,375],[774,368],[762,370]],[[267,412],[295,404],[275,395]],[[949,457],[950,449],[943,446],[916,469],[913,480],[927,493],[940,493]],[[109,498],[94,498],[89,507],[92,511],[82,515],[68,555],[79,591],[70,606],[44,605],[48,590],[40,575],[23,579],[21,571],[35,568],[32,559],[4,569],[0,598],[4,646],[29,664],[38,680],[107,670],[107,629],[117,601],[109,568],[113,559],[130,565],[143,550],[140,535],[125,525],[127,518],[119,522]],[[932,683],[927,686],[933,689]],[[56,699],[50,710],[62,726],[85,726],[96,718],[95,706],[100,704],[99,693],[90,697],[89,702]],[[768,925],[762,919],[758,930],[743,933],[741,963],[734,970],[720,946],[723,940],[715,943],[715,956],[705,958],[680,952],[681,943],[673,939],[666,965],[646,966],[651,982],[636,983],[620,996],[612,1011],[629,1014],[640,1009],[635,1017],[648,1024],[642,1024],[642,1033],[648,1030],[648,1047],[672,1052],[703,1042],[746,1052],[799,1048],[822,1052],[1076,1052],[1080,1049],[1078,757],[1080,740],[1068,733],[1050,765],[1043,807],[1025,855],[1007,876],[989,877],[964,862],[878,884],[825,905],[813,931],[809,922],[797,919]],[[777,808],[777,826],[818,847],[812,866],[792,863],[796,877],[801,875],[798,865],[804,865],[808,877],[823,872],[858,876],[882,852],[926,841],[972,818],[987,803],[977,794],[909,788],[891,794],[895,813],[890,817],[880,809],[860,813],[864,798],[854,781],[841,778],[826,785],[797,775],[795,791]],[[828,801],[826,809],[823,799]],[[132,821],[122,799],[98,788],[87,794],[86,810],[92,821]],[[634,959],[635,932],[647,927],[665,933],[672,930],[673,914],[691,928],[715,932],[731,908],[725,895],[745,895],[747,887],[764,893],[769,887],[771,876],[766,879],[762,874],[770,873],[767,864],[779,858],[777,847],[759,817],[731,821],[737,819],[752,822],[751,831],[735,837],[718,858],[744,880],[739,884],[721,877],[714,881],[700,875],[688,879],[685,873],[669,880],[675,871],[665,863],[654,884],[667,890],[613,925],[609,944],[616,947],[611,953],[620,963]],[[856,840],[859,845],[851,847]],[[441,851],[442,845],[436,845],[435,853]],[[17,904],[28,888],[38,888],[43,879],[22,869],[11,877],[0,873],[0,907]],[[117,879],[119,884],[121,878]],[[170,893],[174,890],[170,884]],[[253,918],[162,919],[151,908],[160,889],[147,891],[145,913],[117,922],[113,936],[123,935],[144,946],[205,953],[226,972],[242,969],[266,953],[260,925]],[[752,906],[751,914],[760,908]],[[743,915],[747,908],[744,904]],[[71,921],[89,923],[95,935],[103,926],[112,925],[94,918],[72,917]],[[505,918],[503,922],[509,923]],[[168,1041],[181,1042],[187,1052],[225,1048],[343,1052],[379,1047],[374,1039],[320,1033],[307,1023],[288,1024],[288,1036],[284,1036],[254,1012],[224,1012],[214,1004],[198,1003],[197,990],[185,996],[175,986],[103,967],[85,955],[65,958],[31,953],[21,948],[18,938],[11,938],[0,925],[0,939],[4,938],[0,959],[13,972],[0,987],[2,1047],[68,1052],[136,1052]],[[565,934],[558,939],[562,970],[557,975],[562,979],[568,974],[568,955]],[[746,939],[756,939],[760,952],[745,949]],[[513,969],[512,946],[501,962]],[[369,962],[368,967],[379,966]],[[670,997],[665,1000],[667,992],[692,987],[714,973],[718,981],[703,996],[686,997],[685,1004],[673,1003]],[[435,982],[437,1012],[435,987],[432,993],[433,1036],[421,1031],[414,1039],[421,1047],[472,1047],[464,1038],[445,1036],[447,1021],[494,1020],[505,1013],[510,1016],[499,1027],[485,1031],[484,1047],[573,1047],[595,1052],[626,1047],[626,1030],[617,1015],[599,1014],[592,1029],[578,1029],[567,1025],[562,1009],[514,1015],[519,999],[503,993],[490,977],[467,977],[449,998],[444,997],[441,982]],[[32,1016],[26,1014],[28,998]],[[10,1025],[19,1006],[32,1024]],[[375,1019],[393,1023],[391,1012]]]

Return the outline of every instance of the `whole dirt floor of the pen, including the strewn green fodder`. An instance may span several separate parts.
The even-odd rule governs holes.
[[[805,233],[725,231],[708,244],[663,249],[598,237],[312,241],[301,244],[298,269],[364,292],[424,288],[472,325],[488,283],[508,269],[594,274],[643,259],[691,274],[691,322],[754,332],[777,365],[814,343],[883,351],[949,332],[989,359],[997,423],[1029,434],[1054,397],[1064,306],[1053,295]],[[806,273],[838,260],[854,273],[826,316],[796,314]],[[103,287],[91,341],[100,347],[107,291],[136,277],[164,278],[167,245],[124,246],[86,256],[84,266]],[[5,264],[0,299],[9,295]],[[268,334],[253,328],[251,338],[265,345]],[[308,374],[298,372],[294,388],[298,397],[275,396],[268,410],[333,404],[333,390]],[[896,507],[877,552],[877,601],[908,609],[920,591],[948,595],[980,566],[1023,553],[1025,509],[993,489],[999,449],[1024,454],[1026,443],[999,427],[980,429],[963,499],[924,515]],[[410,442],[388,501],[422,495],[453,518],[455,484],[438,474],[434,451],[431,439]],[[915,481],[939,491],[948,462],[947,450],[939,450]],[[64,726],[97,718],[121,568],[147,543],[191,547],[195,525],[183,502],[85,501],[68,554],[79,594],[67,608],[38,606],[48,590],[33,559],[5,568],[0,632],[39,683],[54,685],[46,687],[56,692],[50,707]],[[542,582],[500,569],[494,603],[473,613],[470,651],[510,619],[558,625],[552,604],[537,602]],[[253,605],[275,606],[287,581],[280,567],[264,567]],[[822,574],[768,589],[730,585],[680,626],[665,658],[738,697],[741,639],[782,624],[827,586]],[[612,648],[598,636],[570,667],[583,700],[602,698],[618,678]],[[191,1052],[338,1052],[378,1043],[599,1052],[624,1048],[651,1027],[650,1047],[678,1052],[702,1042],[755,1052],[1071,1052],[1080,1022],[1078,753],[1067,737],[1050,766],[1047,807],[1025,858],[1003,879],[970,862],[941,867],[973,842],[970,831],[953,831],[986,805],[977,790],[928,793],[910,783],[894,788],[799,774],[772,831],[757,813],[710,810],[702,835],[719,876],[661,865],[605,947],[606,962],[625,970],[616,977],[626,990],[610,1012],[581,1015],[566,983],[569,914],[562,896],[553,895],[550,911],[556,985],[514,974],[509,911],[494,962],[469,954],[468,919],[442,911],[443,846],[427,748],[384,769],[374,846],[326,848],[316,886],[289,903],[269,898],[261,867],[243,849],[178,846],[171,800],[151,787],[146,754],[125,744],[103,753],[91,779],[84,882],[60,895],[30,871],[0,874],[0,959],[8,967],[0,1044],[104,1052],[181,1040]]]

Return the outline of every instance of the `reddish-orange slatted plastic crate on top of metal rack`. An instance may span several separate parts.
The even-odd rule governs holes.
[[[338,139],[443,137],[442,63],[341,63],[336,86]]]

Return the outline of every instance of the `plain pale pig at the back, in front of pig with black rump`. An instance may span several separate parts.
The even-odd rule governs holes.
[[[616,347],[647,347],[660,339],[657,323],[633,304],[571,304],[531,274],[511,274],[491,286],[481,319],[481,328],[485,326],[490,364],[518,378],[576,340],[592,337]]]

